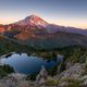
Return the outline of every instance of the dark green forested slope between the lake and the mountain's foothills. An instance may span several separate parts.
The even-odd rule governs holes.
[[[34,47],[28,47],[21,42],[11,40],[0,35],[0,55],[7,54],[10,52],[25,52],[27,54],[35,54],[42,58],[51,58],[51,54],[63,54],[66,59],[73,58],[74,61],[79,61],[82,58],[87,57],[87,47],[84,46],[67,46],[63,48],[52,48],[52,49],[39,49]]]

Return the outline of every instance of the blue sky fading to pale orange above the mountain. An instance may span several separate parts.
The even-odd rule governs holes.
[[[0,24],[32,14],[49,23],[87,28],[87,0],[0,0]]]

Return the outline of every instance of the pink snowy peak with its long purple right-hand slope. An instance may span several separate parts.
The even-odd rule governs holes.
[[[57,33],[57,32],[67,32],[67,33],[87,35],[87,29],[75,28],[75,27],[64,27],[64,26],[60,26],[60,25],[55,25],[55,24],[50,24],[37,15],[27,16],[24,20],[18,21],[14,24],[26,27],[28,29],[29,28],[32,28],[32,29],[34,29],[34,28],[41,29],[42,28],[48,34]]]

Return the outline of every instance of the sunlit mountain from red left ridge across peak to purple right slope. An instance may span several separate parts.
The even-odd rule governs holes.
[[[10,30],[13,28],[16,28],[22,32],[25,32],[25,30],[33,32],[34,30],[34,33],[36,34],[39,34],[39,33],[40,34],[44,34],[44,33],[52,34],[57,32],[66,32],[66,33],[75,33],[75,34],[87,36],[87,29],[65,27],[65,26],[60,26],[55,24],[50,24],[37,15],[30,15],[13,24],[5,25],[5,28],[4,26],[1,26],[0,33]]]

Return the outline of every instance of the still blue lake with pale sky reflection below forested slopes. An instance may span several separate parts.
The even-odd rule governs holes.
[[[1,59],[2,64],[9,64],[16,73],[33,74],[41,70],[44,65],[46,69],[51,69],[60,61],[58,59],[47,61],[38,57],[28,57],[26,53],[14,53],[8,58]]]

